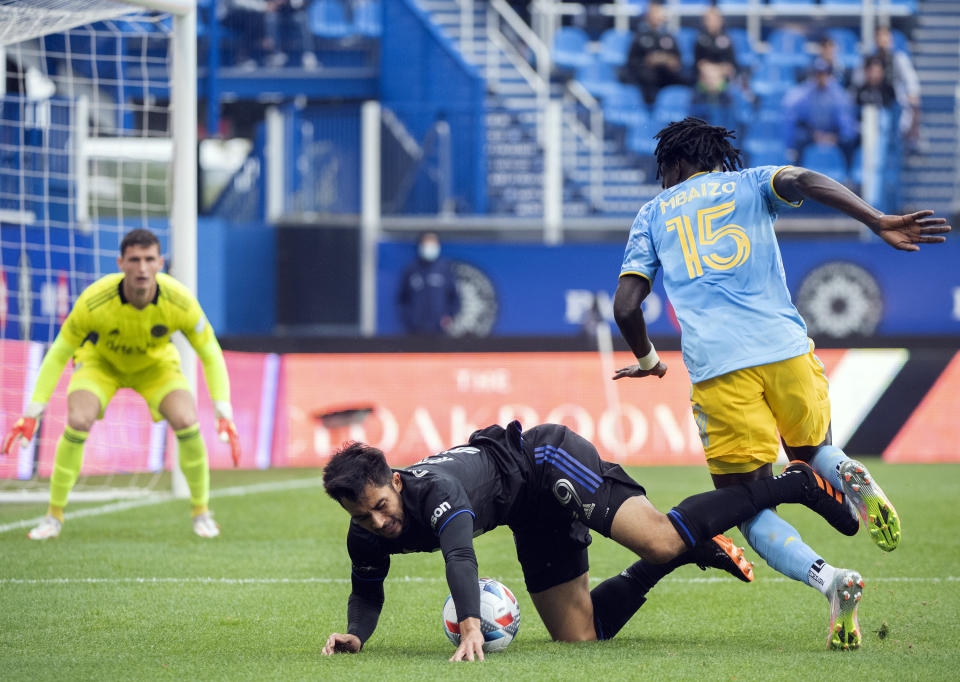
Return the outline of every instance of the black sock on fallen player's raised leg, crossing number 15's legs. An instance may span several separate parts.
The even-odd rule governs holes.
[[[691,495],[667,512],[667,518],[687,547],[695,547],[753,518],[763,509],[784,502],[803,502],[806,483],[807,477],[800,472],[738,483]]]

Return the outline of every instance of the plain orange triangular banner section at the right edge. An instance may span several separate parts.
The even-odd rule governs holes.
[[[960,460],[960,353],[913,411],[883,452],[887,462],[956,462]]]

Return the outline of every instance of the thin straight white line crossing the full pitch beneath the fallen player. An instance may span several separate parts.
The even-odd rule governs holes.
[[[603,578],[590,578],[590,582],[599,583]],[[664,578],[664,582],[699,584],[699,583],[720,583],[731,582],[731,578]],[[443,583],[446,584],[446,578],[436,576],[432,578],[423,576],[391,576],[387,578],[390,583]],[[517,585],[523,583],[523,578],[513,577],[504,578],[503,582]],[[794,582],[791,578],[775,577],[764,578],[762,583],[789,583]],[[913,576],[889,576],[889,577],[867,577],[866,582],[872,583],[955,583],[960,582],[960,576],[928,577],[920,578]],[[347,585],[350,584],[350,578],[0,578],[0,585]]]

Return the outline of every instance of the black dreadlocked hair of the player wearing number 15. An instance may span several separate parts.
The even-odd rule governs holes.
[[[658,140],[654,152],[657,157],[657,178],[666,166],[686,161],[698,170],[738,170],[743,167],[740,150],[730,144],[736,132],[722,126],[712,126],[703,119],[687,116],[674,121],[654,135]]]

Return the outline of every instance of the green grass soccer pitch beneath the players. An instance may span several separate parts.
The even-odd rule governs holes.
[[[63,535],[43,543],[10,527],[44,505],[0,505],[0,679],[957,679],[960,465],[869,466],[903,519],[895,552],[874,547],[863,529],[844,538],[805,508],[781,509],[827,561],[863,574],[859,651],[828,651],[826,600],[749,548],[752,585],[684,567],[615,639],[551,642],[511,537],[497,529],[476,548],[480,575],[520,600],[520,632],[506,651],[483,664],[447,662],[447,587],[435,553],[394,557],[380,625],[364,651],[323,657],[327,635],[345,627],[346,515],[323,495],[319,471],[216,471],[216,540],[192,534],[179,500],[68,517]],[[710,485],[705,468],[631,473],[664,511]],[[256,487],[295,480],[306,485]],[[228,494],[238,489],[249,492]],[[595,537],[590,574],[606,578],[632,560]]]

